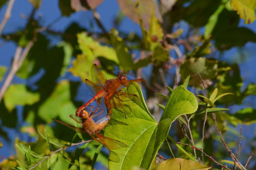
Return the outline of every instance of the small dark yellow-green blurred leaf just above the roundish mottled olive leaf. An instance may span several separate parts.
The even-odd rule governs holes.
[[[191,51],[191,53],[189,55],[187,55],[187,59],[191,58],[191,57],[195,57],[195,58],[199,58],[202,57],[204,55],[208,55],[211,53],[211,43],[210,43],[210,39],[207,40],[203,40],[202,44],[198,47],[196,47],[193,51]]]

